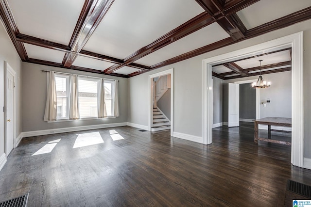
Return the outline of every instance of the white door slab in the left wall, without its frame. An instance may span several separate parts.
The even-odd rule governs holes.
[[[6,155],[8,156],[14,147],[14,74],[6,71]]]

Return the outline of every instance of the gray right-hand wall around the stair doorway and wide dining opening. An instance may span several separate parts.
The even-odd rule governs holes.
[[[309,95],[309,89],[311,88],[311,20],[130,78],[128,80],[128,121],[148,126],[148,76],[174,68],[173,130],[179,133],[202,137],[202,60],[300,31],[304,31],[304,147],[305,157],[311,158],[311,127],[309,127],[309,123],[311,123],[311,96]],[[272,84],[274,83],[272,82]],[[270,98],[272,99],[271,101],[274,101],[272,97]]]

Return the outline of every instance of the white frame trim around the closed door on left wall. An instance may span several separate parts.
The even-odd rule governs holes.
[[[4,61],[4,153],[6,157],[8,156],[8,151],[6,147],[7,137],[6,137],[6,109],[7,109],[7,99],[6,99],[6,84],[7,84],[7,71],[9,71],[13,75],[13,148],[16,148],[16,72],[13,68]]]

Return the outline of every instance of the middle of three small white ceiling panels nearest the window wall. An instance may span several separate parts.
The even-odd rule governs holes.
[[[105,70],[113,64],[106,62],[106,61],[97,60],[94,58],[78,56],[72,65],[96,69],[96,70]]]

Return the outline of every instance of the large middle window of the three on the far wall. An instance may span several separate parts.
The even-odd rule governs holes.
[[[79,77],[78,81],[80,118],[97,117],[100,80]]]

